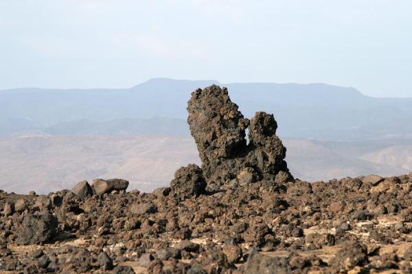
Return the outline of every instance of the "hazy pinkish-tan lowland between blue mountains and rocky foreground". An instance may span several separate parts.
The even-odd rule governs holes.
[[[412,140],[330,142],[283,139],[295,177],[308,181],[411,169]],[[0,189],[47,193],[97,177],[120,177],[130,188],[168,186],[174,171],[201,164],[190,136],[26,136],[0,138]]]

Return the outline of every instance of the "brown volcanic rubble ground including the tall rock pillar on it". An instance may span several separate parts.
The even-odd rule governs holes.
[[[0,192],[4,273],[411,273],[412,174],[294,179],[273,115],[192,93],[200,158],[170,187],[124,179]],[[249,129],[249,138],[245,130]]]

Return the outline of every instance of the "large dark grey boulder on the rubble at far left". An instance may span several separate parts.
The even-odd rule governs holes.
[[[16,243],[19,245],[38,245],[50,240],[56,232],[57,219],[49,212],[28,214],[24,217],[18,231]]]

